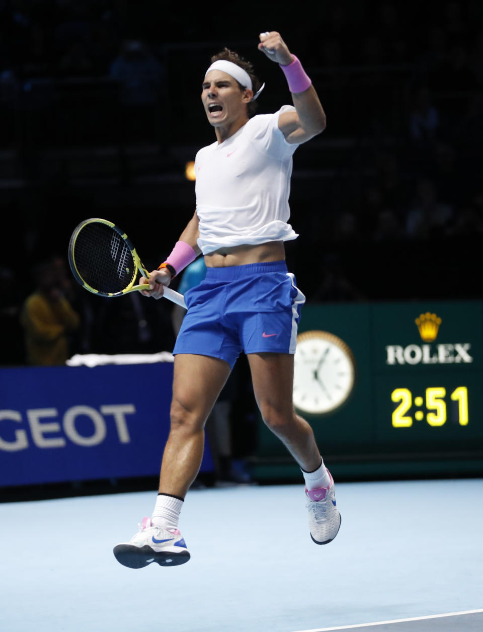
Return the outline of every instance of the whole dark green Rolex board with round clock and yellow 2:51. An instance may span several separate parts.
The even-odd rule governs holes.
[[[483,474],[483,301],[306,305],[293,402],[334,475]]]

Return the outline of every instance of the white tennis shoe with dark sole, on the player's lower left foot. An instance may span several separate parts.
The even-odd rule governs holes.
[[[178,529],[154,526],[147,517],[130,542],[116,544],[114,556],[119,564],[128,568],[144,568],[152,562],[159,566],[178,566],[190,559],[185,540]]]

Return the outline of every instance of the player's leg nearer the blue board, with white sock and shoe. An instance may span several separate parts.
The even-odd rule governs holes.
[[[143,568],[151,562],[176,566],[190,559],[178,517],[200,469],[205,422],[230,370],[229,363],[218,358],[175,356],[171,429],[162,458],[160,493],[152,517],[144,518],[130,542],[114,547],[114,556],[123,566]]]

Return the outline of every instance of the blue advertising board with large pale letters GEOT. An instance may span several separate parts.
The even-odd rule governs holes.
[[[172,380],[169,362],[0,369],[0,487],[157,475]]]

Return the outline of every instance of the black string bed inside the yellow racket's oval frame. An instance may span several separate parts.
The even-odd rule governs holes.
[[[84,283],[103,294],[122,291],[137,276],[128,245],[111,226],[101,222],[90,222],[80,229],[73,260]]]

